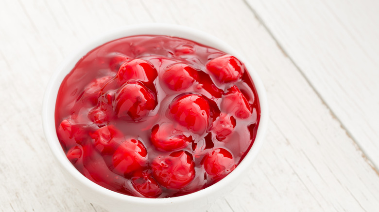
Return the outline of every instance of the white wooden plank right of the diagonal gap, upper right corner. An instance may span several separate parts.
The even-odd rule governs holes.
[[[379,167],[379,1],[246,1]]]

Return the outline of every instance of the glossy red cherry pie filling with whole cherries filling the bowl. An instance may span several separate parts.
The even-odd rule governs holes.
[[[228,175],[254,143],[260,109],[245,66],[189,40],[142,35],[86,54],[63,80],[56,132],[89,180],[177,197]]]

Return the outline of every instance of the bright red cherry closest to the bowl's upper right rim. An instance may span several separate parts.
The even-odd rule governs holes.
[[[209,61],[206,67],[220,82],[224,83],[237,81],[244,72],[241,61],[231,55],[215,58]]]

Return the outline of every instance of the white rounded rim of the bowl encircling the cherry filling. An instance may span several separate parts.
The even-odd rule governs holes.
[[[173,37],[185,38],[203,45],[214,47],[216,49],[224,51],[225,53],[231,54],[237,57],[240,61],[242,61],[245,64],[246,70],[249,72],[252,78],[259,99],[260,119],[257,130],[257,136],[255,138],[254,144],[252,145],[249,152],[245,155],[241,163],[231,173],[229,173],[219,182],[200,191],[196,191],[194,193],[190,193],[179,197],[133,197],[111,191],[96,184],[95,182],[90,181],[69,162],[68,158],[64,154],[64,151],[56,136],[54,118],[55,101],[63,78],[72,70],[77,61],[79,61],[83,56],[85,56],[86,53],[88,53],[90,50],[109,41],[133,35],[168,35]],[[230,45],[226,44],[224,41],[220,40],[216,36],[213,36],[201,30],[181,25],[162,23],[136,24],[120,27],[111,30],[107,33],[104,33],[103,35],[98,36],[88,41],[86,44],[78,47],[72,54],[69,55],[69,57],[66,57],[64,61],[60,63],[60,65],[52,74],[52,77],[46,87],[42,103],[42,124],[49,147],[55,159],[60,163],[60,165],[64,169],[66,169],[67,172],[69,172],[69,174],[72,177],[74,177],[78,182],[84,184],[93,192],[101,193],[107,197],[111,197],[119,201],[134,202],[148,205],[166,205],[172,203],[188,202],[198,198],[207,197],[208,195],[214,194],[215,192],[219,191],[219,189],[224,188],[225,186],[236,180],[238,176],[243,175],[244,172],[248,170],[249,165],[251,165],[254,159],[257,157],[258,151],[262,146],[268,126],[268,116],[269,113],[267,105],[267,96],[266,91],[263,87],[263,83],[255,69],[252,67],[252,65],[241,54],[239,54],[236,50],[234,50],[234,48],[232,48]]]

